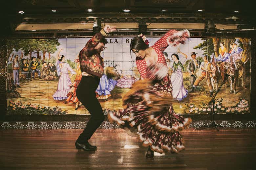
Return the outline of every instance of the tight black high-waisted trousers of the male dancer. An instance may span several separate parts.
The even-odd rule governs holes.
[[[88,121],[84,131],[77,139],[77,142],[80,144],[84,144],[87,140],[89,140],[105,119],[103,110],[95,94],[95,90],[97,89],[98,85],[98,77],[82,76],[82,79],[76,89],[76,96],[78,100],[91,114],[91,118]]]

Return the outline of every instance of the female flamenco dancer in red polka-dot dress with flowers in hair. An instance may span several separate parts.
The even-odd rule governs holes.
[[[178,153],[185,148],[179,131],[191,119],[176,115],[173,110],[172,85],[163,51],[168,45],[184,44],[188,37],[187,30],[170,30],[151,47],[143,35],[131,41],[143,80],[137,81],[123,97],[124,110],[110,112],[108,118],[128,133],[136,133],[143,146],[149,146],[147,158],[152,158],[154,151]]]

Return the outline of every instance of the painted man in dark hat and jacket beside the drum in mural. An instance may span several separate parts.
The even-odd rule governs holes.
[[[195,73],[194,71],[200,67],[201,62],[196,59],[197,53],[192,52],[190,53],[192,60],[188,64],[188,72],[190,73],[189,82],[190,82],[190,88],[192,89],[192,85],[196,81]]]

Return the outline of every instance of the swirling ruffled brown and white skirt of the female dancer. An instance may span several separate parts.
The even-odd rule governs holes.
[[[185,148],[179,131],[192,120],[176,115],[171,101],[172,96],[163,92],[159,84],[139,80],[123,97],[124,109],[110,112],[108,119],[128,134],[138,136],[143,146],[155,152],[178,153]]]

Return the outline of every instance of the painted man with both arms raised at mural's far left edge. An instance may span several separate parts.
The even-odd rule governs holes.
[[[23,53],[21,52],[21,56],[19,57],[19,55],[11,55],[11,58],[9,59],[9,61],[12,62],[12,70],[13,70],[13,84],[16,85],[16,87],[21,87],[20,83],[19,83],[19,76],[20,76],[20,60],[23,57]]]

